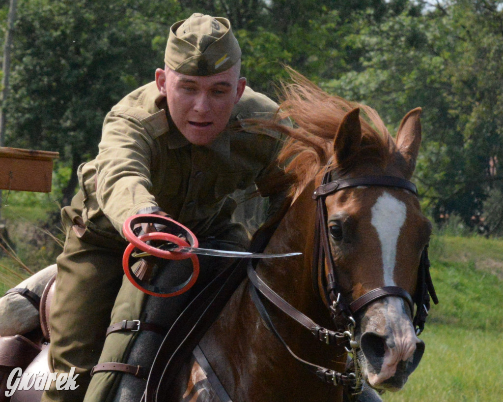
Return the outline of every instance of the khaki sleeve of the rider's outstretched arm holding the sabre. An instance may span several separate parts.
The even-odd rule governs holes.
[[[157,207],[150,194],[150,166],[154,140],[141,120],[111,112],[105,118],[100,151],[96,158],[98,203],[122,234],[124,221],[148,207]]]

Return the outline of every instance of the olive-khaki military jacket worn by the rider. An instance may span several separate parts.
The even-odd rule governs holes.
[[[208,147],[190,144],[162,107],[165,98],[151,83],[107,115],[97,158],[79,169],[82,218],[88,228],[118,237],[127,218],[158,207],[205,236],[230,219],[235,204],[229,194],[254,182],[260,190],[261,182],[278,169],[276,133],[237,129],[243,119],[274,115],[278,106],[265,95],[246,87],[233,109],[231,127]]]

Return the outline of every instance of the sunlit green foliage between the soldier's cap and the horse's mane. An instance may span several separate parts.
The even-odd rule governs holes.
[[[243,73],[255,89],[271,94],[288,64],[308,78],[349,71],[359,51],[346,37],[355,16],[368,10],[376,20],[401,10],[407,0],[181,0],[186,14],[227,17],[243,50]]]

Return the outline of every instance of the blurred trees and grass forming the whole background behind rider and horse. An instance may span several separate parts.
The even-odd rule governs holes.
[[[10,1],[0,0],[2,59]],[[289,65],[374,107],[391,133],[423,108],[413,180],[436,223],[430,255],[441,304],[421,369],[384,398],[501,400],[503,240],[474,234],[503,236],[503,0],[16,1],[11,91],[0,105],[5,145],[60,159],[50,194],[2,192],[13,248],[0,250],[0,295],[55,261],[76,168],[97,154],[108,110],[163,65],[170,26],[193,12],[225,16],[243,76],[273,99]]]

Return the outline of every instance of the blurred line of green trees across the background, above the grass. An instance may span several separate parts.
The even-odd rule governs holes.
[[[502,1],[17,2],[5,145],[60,153],[52,222],[75,192],[76,168],[98,152],[107,111],[153,80],[169,27],[203,12],[229,18],[243,76],[276,100],[286,64],[374,107],[392,133],[422,107],[414,180],[426,212],[439,225],[452,218],[469,232],[503,234]],[[0,2],[2,49],[8,9]],[[39,199],[12,194],[11,203]]]

